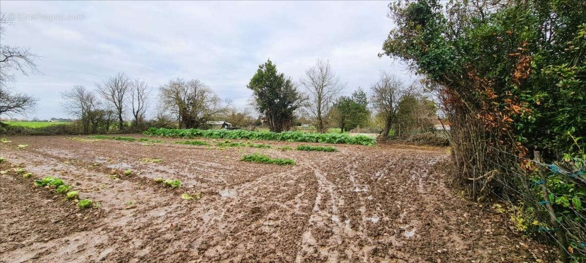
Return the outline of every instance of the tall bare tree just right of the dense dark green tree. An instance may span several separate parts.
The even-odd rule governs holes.
[[[309,95],[305,109],[314,119],[316,129],[322,133],[326,132],[333,103],[346,84],[340,82],[329,61],[324,60],[316,61],[313,67],[305,71],[305,77],[301,78],[300,82]]]

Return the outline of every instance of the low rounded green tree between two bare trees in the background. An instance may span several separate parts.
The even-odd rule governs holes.
[[[364,126],[370,116],[366,93],[360,88],[352,96],[340,96],[333,106],[333,120],[340,126],[342,132]]]

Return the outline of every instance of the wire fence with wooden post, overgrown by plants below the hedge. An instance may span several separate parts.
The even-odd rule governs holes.
[[[534,159],[511,154],[505,148],[484,144],[494,168],[478,178],[480,195],[496,196],[514,207],[520,230],[546,237],[557,245],[562,261],[586,261],[586,164],[584,160],[546,163],[540,153]],[[474,173],[472,173],[474,174]],[[533,220],[532,222],[528,222]]]

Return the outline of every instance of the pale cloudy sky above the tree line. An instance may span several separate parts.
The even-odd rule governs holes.
[[[30,118],[66,116],[62,91],[79,84],[93,89],[119,71],[153,87],[151,111],[158,87],[176,77],[200,79],[221,98],[246,106],[246,85],[267,58],[295,81],[316,59],[328,59],[347,82],[346,94],[368,88],[380,70],[406,81],[413,77],[399,61],[377,56],[393,26],[388,4],[1,1],[0,10],[15,17],[1,41],[42,56],[42,74],[17,74],[14,84],[16,91],[40,99]]]

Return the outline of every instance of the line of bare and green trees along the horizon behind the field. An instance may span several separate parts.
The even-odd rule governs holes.
[[[4,33],[10,21],[4,15],[1,18],[0,32]],[[25,74],[38,72],[35,64],[38,56],[28,49],[6,45],[0,54],[0,114],[30,112],[38,99],[12,94],[7,84],[15,81],[14,75],[9,74],[12,70]],[[321,133],[331,127],[349,131],[380,126],[381,138],[387,139],[395,131],[414,133],[429,129],[435,118],[433,106],[421,106],[433,102],[423,96],[420,84],[404,85],[396,76],[381,71],[380,78],[370,86],[370,95],[360,87],[351,95],[343,95],[347,84],[333,71],[329,61],[321,59],[299,81],[278,72],[277,66],[267,60],[258,66],[246,87],[253,92],[251,106],[259,113],[258,117],[253,117],[248,108],[230,106],[196,78],[169,80],[158,88],[158,103],[149,105],[154,99],[153,87],[144,79],[132,78],[124,72],[95,83],[94,88],[75,85],[62,92],[62,109],[77,119],[80,133],[141,131],[149,126],[206,129],[210,120],[225,120],[239,127],[264,124],[275,132],[289,130],[302,122],[311,123]],[[154,110],[147,115],[149,109]]]

